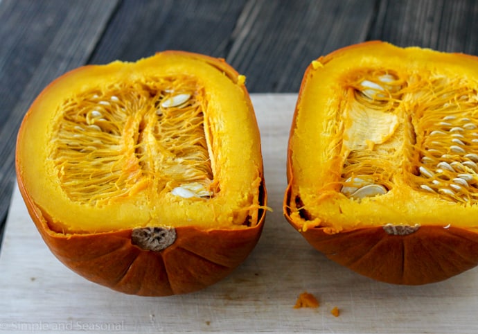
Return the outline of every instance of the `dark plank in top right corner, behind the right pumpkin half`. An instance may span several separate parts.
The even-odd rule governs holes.
[[[367,38],[478,55],[478,2],[382,0]]]

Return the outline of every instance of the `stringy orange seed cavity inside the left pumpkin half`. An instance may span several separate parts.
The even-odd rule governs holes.
[[[194,78],[94,87],[58,107],[49,156],[73,202],[98,205],[144,188],[213,197],[204,89]]]

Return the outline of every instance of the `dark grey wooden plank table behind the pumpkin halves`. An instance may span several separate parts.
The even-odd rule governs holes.
[[[225,58],[251,93],[296,92],[311,60],[371,39],[478,55],[478,1],[0,0],[0,226],[21,119],[62,73],[180,49]]]

